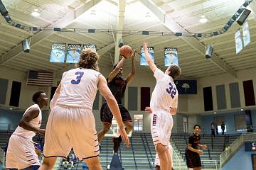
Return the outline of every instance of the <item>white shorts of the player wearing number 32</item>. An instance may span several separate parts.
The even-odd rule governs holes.
[[[154,145],[161,143],[168,147],[173,125],[171,113],[161,109],[152,112],[151,135]]]

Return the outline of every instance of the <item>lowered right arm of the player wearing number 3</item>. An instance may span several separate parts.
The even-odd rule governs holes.
[[[105,77],[103,77],[102,75],[99,76],[98,89],[100,91],[100,94],[102,94],[102,96],[106,99],[107,105],[110,107],[110,111],[114,115],[114,118],[117,120],[117,124],[119,126],[119,133],[122,139],[126,143],[127,147],[129,147],[129,138],[124,130],[124,124],[122,123],[122,117],[119,111],[119,107],[117,105],[117,101],[111,93],[109,87],[107,86],[107,81]]]

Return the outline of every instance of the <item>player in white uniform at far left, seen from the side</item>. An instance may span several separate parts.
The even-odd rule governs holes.
[[[36,133],[45,134],[45,130],[40,129],[41,108],[48,105],[48,98],[43,91],[38,91],[33,94],[32,100],[36,104],[26,109],[18,127],[10,137],[6,169],[38,169],[40,166],[32,138]]]

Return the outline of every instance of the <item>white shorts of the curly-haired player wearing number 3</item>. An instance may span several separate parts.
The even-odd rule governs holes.
[[[46,125],[45,157],[67,157],[71,148],[80,159],[100,154],[95,118],[86,108],[55,106]]]

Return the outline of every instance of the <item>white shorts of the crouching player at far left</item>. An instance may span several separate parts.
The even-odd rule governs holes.
[[[32,139],[11,135],[6,152],[6,169],[25,169],[40,165]]]

